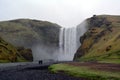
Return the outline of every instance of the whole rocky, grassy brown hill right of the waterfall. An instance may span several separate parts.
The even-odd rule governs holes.
[[[86,22],[74,60],[120,60],[120,16],[94,15]]]

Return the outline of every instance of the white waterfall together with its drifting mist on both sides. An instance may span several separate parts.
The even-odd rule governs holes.
[[[60,28],[59,47],[52,47],[42,43],[32,47],[34,61],[53,59],[58,61],[72,61],[74,54],[80,47],[80,36],[86,32],[86,22],[77,27]]]

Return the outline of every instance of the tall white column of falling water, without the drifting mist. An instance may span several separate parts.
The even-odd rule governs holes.
[[[77,50],[76,27],[61,28],[59,34],[58,60],[71,61]]]

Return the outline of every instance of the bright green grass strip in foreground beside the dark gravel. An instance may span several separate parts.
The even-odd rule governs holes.
[[[53,73],[64,72],[74,77],[89,80],[120,80],[120,72],[92,70],[88,67],[76,67],[67,64],[54,64],[49,67],[49,70]]]

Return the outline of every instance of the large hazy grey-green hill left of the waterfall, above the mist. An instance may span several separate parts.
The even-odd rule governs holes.
[[[17,19],[0,22],[0,36],[15,46],[57,46],[60,26],[48,21]]]

